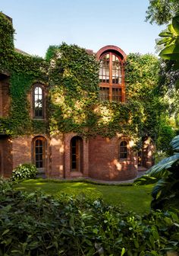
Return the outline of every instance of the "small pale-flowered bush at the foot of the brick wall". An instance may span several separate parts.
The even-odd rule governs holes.
[[[20,164],[12,171],[12,181],[36,178],[37,168],[32,164]]]

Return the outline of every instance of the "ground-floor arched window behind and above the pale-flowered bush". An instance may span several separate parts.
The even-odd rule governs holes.
[[[46,139],[38,136],[33,139],[33,163],[36,168],[45,168]]]

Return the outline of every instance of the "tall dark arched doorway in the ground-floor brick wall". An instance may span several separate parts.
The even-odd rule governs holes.
[[[83,172],[83,139],[80,136],[71,139],[71,171]]]

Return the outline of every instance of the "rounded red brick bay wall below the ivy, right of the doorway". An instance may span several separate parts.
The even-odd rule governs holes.
[[[129,139],[127,140],[130,144]],[[137,176],[136,156],[129,145],[127,159],[119,160],[119,142],[117,136],[112,139],[101,136],[89,139],[89,177],[123,181]]]

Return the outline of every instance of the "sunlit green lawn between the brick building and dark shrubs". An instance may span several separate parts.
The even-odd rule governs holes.
[[[116,186],[104,184],[90,184],[89,182],[61,182],[34,179],[23,181],[16,186],[17,190],[42,190],[46,194],[60,197],[61,193],[72,195],[85,194],[86,197],[102,198],[106,203],[122,206],[123,210],[132,210],[136,213],[149,213],[152,186]]]

